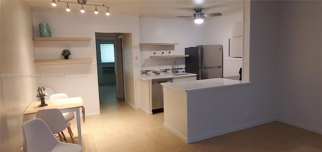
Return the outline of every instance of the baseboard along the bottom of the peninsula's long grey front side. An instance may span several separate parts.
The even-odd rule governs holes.
[[[226,133],[230,133],[230,132],[250,128],[250,127],[253,127],[253,126],[261,125],[261,124],[272,122],[272,121],[276,121],[276,119],[275,118],[269,118],[269,119],[266,119],[266,120],[261,120],[261,121],[257,121],[257,122],[252,122],[252,123],[248,123],[248,124],[238,125],[238,126],[234,126],[234,127],[231,127],[231,128],[219,130],[219,131],[216,131],[216,132],[209,133],[207,135],[191,137],[191,138],[188,138],[187,143],[192,143],[192,142],[200,141],[200,140],[203,140],[203,139],[208,139],[208,138],[215,137],[215,136],[218,136],[218,135],[222,135],[222,134],[226,134]],[[189,134],[188,134],[188,136],[189,136]]]

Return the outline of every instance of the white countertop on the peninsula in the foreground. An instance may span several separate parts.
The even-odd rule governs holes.
[[[162,83],[164,87],[170,87],[179,91],[189,92],[201,89],[210,89],[231,85],[247,84],[250,82],[225,79],[225,78],[214,78],[214,79],[203,79],[203,80],[193,80],[184,82],[174,82],[174,83]]]

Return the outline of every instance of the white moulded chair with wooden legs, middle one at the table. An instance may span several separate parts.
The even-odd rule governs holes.
[[[62,137],[59,133],[59,132],[61,132],[62,136],[64,137],[65,141],[67,142],[65,134],[62,131],[64,129],[68,128],[70,123],[65,121],[65,119],[62,116],[62,113],[60,112],[59,109],[39,110],[36,114],[36,118],[42,119],[48,125],[48,127],[50,128],[50,130],[53,134],[57,133],[60,141],[62,141]],[[69,135],[70,135],[72,143],[75,143],[69,129],[68,129],[68,131],[69,131]]]

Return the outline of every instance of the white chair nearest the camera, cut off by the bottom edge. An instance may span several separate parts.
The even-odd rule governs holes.
[[[22,125],[26,152],[70,151],[81,152],[79,144],[65,143],[55,139],[48,125],[41,119],[31,119]]]

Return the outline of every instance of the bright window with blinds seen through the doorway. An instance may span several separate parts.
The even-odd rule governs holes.
[[[100,44],[101,63],[114,63],[114,44]]]

